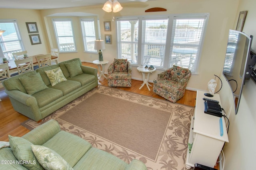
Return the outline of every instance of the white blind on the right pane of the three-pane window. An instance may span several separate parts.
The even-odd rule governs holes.
[[[196,71],[199,52],[202,47],[202,35],[205,18],[174,17],[170,47],[169,66],[173,64]]]

